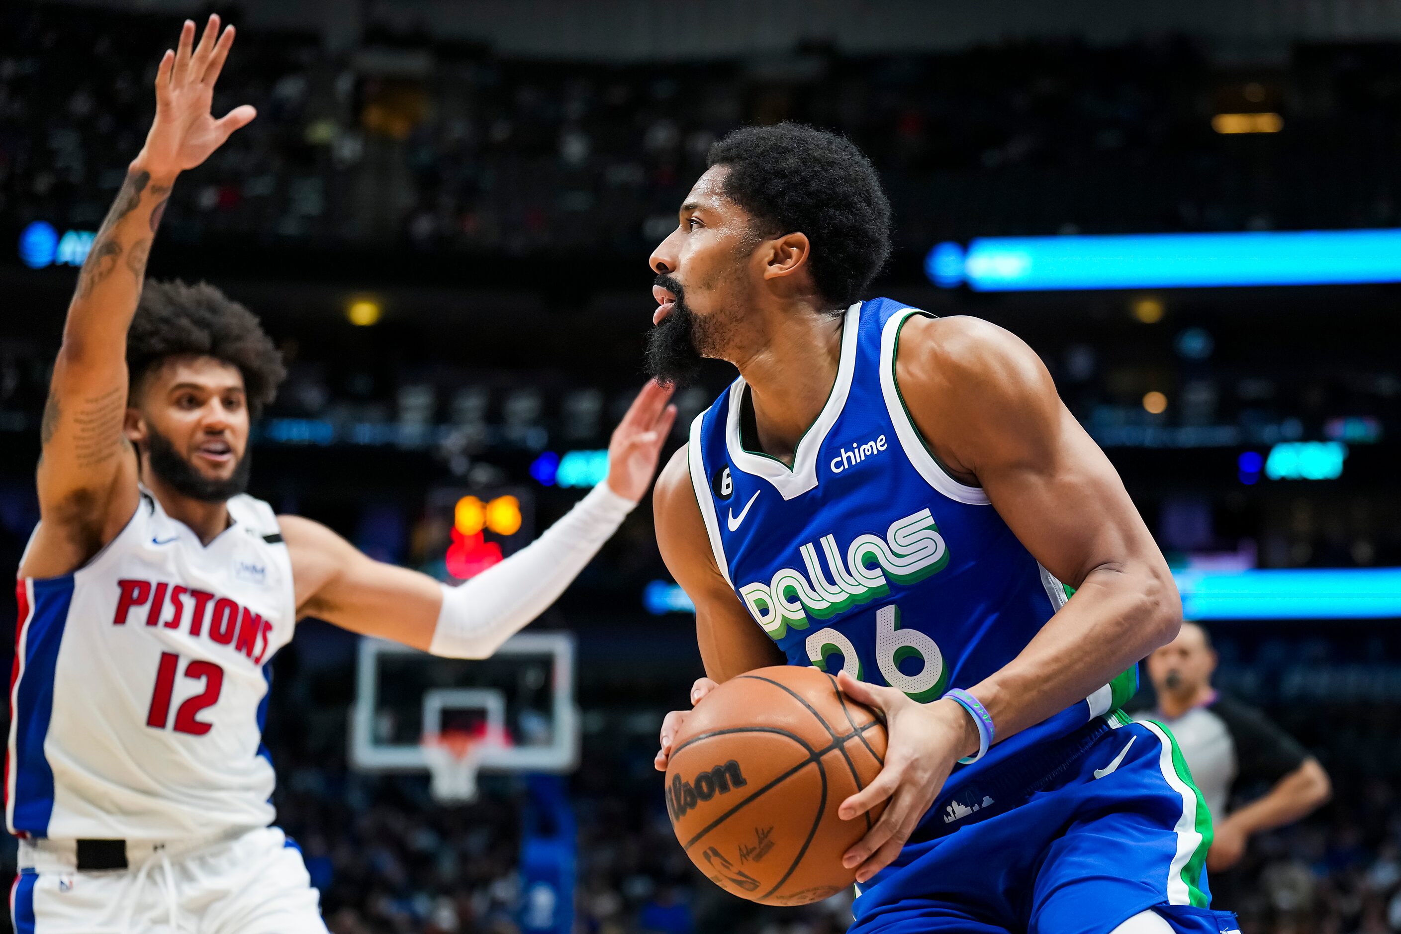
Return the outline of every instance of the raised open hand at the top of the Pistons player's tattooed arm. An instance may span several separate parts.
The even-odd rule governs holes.
[[[195,24],[185,21],[179,45],[165,52],[156,70],[156,120],[133,165],[156,178],[195,168],[258,115],[247,104],[219,119],[210,112],[214,83],[233,45],[234,27],[220,32],[217,15],[209,17],[198,46]]]

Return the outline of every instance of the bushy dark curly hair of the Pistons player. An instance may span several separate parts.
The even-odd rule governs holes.
[[[147,280],[126,332],[129,398],[168,357],[198,354],[238,367],[248,410],[256,417],[287,375],[282,353],[258,316],[209,283]]]

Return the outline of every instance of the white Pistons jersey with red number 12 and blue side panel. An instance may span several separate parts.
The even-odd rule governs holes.
[[[53,839],[266,826],[269,662],[296,625],[277,520],[251,496],[207,546],[142,492],[77,571],[20,578],[6,821]]]

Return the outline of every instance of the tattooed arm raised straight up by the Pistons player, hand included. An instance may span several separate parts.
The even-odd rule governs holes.
[[[42,521],[21,574],[52,577],[80,567],[136,510],[137,465],[122,433],[126,330],[175,178],[255,116],[251,106],[217,120],[210,113],[214,81],[233,41],[233,27],[220,34],[219,17],[210,17],[195,46],[195,24],[185,22],[179,48],[167,52],[157,69],[156,120],[92,241],[69,304],[39,428]]]

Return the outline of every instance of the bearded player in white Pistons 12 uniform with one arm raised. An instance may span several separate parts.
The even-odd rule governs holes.
[[[234,39],[186,22],[156,120],[69,307],[43,413],[41,522],[20,566],[6,819],[15,930],[324,933],[270,826],[268,662],[317,616],[437,655],[492,654],[646,492],[675,417],[649,384],[608,478],[541,539],[458,588],[377,563],[244,494],[248,430],[283,375],[256,318],[150,283],[165,199],[254,119],[210,115]]]

